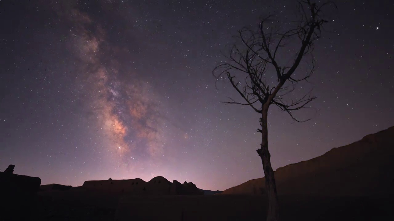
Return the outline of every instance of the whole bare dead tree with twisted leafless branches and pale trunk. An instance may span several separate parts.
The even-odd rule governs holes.
[[[268,197],[268,221],[279,220],[279,205],[275,177],[271,166],[270,153],[268,150],[268,127],[267,117],[270,105],[276,105],[279,109],[287,112],[296,122],[294,110],[306,107],[316,97],[305,94],[298,99],[288,98],[295,85],[300,81],[307,81],[315,69],[315,60],[312,55],[314,43],[322,35],[322,26],[327,23],[323,19],[322,9],[327,5],[335,4],[325,2],[316,4],[310,0],[297,0],[298,16],[295,21],[281,23],[276,27],[274,16],[262,18],[258,29],[243,28],[238,31],[238,41],[230,47],[229,53],[225,55],[225,62],[219,63],[213,70],[216,80],[228,79],[235,90],[243,98],[244,102],[231,99],[230,104],[248,105],[257,113],[261,114],[260,126],[257,131],[261,133],[261,146],[257,151],[263,164],[265,175],[266,194]],[[283,64],[279,55],[288,44],[297,44],[297,50],[292,50],[292,59]],[[309,68],[302,77],[295,77],[294,73],[304,57],[310,58],[306,61]],[[304,59],[305,60],[305,59]],[[290,64],[289,64],[290,63]],[[299,69],[299,68],[298,68]],[[271,74],[269,76],[268,74]],[[244,79],[241,83],[238,79]],[[274,80],[272,80],[274,79]]]

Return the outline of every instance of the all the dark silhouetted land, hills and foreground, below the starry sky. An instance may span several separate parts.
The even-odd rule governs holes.
[[[394,127],[320,157],[278,168],[281,220],[392,219],[392,147]],[[8,195],[2,198],[8,205],[4,211],[11,220],[236,221],[260,220],[267,211],[264,178],[249,180],[223,194],[203,195],[192,182],[171,183],[164,177],[148,182],[91,180],[79,187],[48,184],[38,191],[41,179],[37,177],[0,175],[4,178],[2,194]],[[32,185],[26,186],[28,180]],[[38,192],[27,194],[21,188]],[[14,219],[19,214],[27,218]]]

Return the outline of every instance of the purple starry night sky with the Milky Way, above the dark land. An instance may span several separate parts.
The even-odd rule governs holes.
[[[0,169],[72,186],[160,175],[225,190],[263,177],[259,115],[219,103],[239,96],[212,70],[238,29],[291,19],[294,5],[0,1]],[[301,85],[318,98],[296,116],[312,120],[269,111],[274,169],[394,125],[394,2],[337,5]]]

